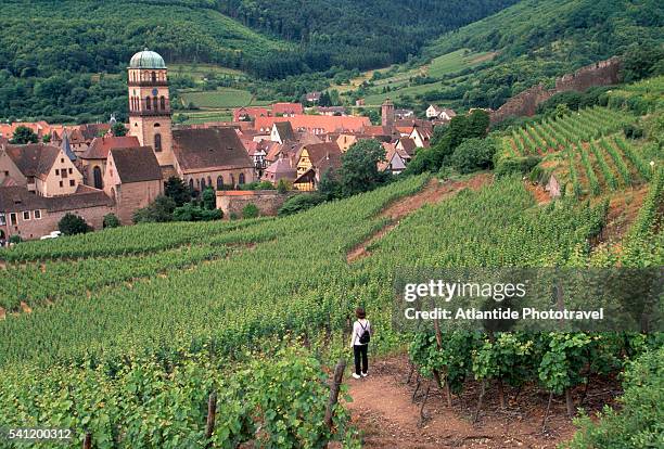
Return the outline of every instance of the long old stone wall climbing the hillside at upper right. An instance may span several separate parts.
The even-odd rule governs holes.
[[[512,97],[497,111],[491,112],[491,123],[511,116],[533,116],[537,105],[559,92],[584,91],[595,86],[610,86],[620,82],[621,60],[614,56],[579,68],[573,74],[556,79],[556,88],[546,89],[544,85],[533,86]]]

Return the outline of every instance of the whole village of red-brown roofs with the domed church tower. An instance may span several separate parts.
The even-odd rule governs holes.
[[[113,134],[115,118],[80,126],[0,125],[0,243],[12,235],[48,235],[67,214],[93,229],[110,214],[130,224],[135,211],[163,194],[171,177],[194,196],[206,188],[224,196],[257,181],[315,191],[325,170],[339,169],[342,155],[362,139],[381,142],[385,161],[379,169],[398,175],[417,149],[430,145],[434,126],[456,115],[432,105],[427,119],[418,119],[386,100],[381,125],[374,126],[343,107],[315,106],[311,115],[299,103],[274,103],[235,108],[230,123],[176,126],[159,54],[136,53],[128,80],[126,136]],[[10,143],[20,127],[48,143]]]

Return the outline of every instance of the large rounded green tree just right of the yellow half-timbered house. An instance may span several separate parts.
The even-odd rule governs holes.
[[[342,157],[339,170],[344,196],[368,192],[383,183],[385,176],[379,171],[379,162],[385,161],[385,149],[378,140],[362,139],[354,143]]]

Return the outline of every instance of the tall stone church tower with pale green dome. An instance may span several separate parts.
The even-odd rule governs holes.
[[[128,67],[129,134],[152,146],[161,166],[173,166],[170,102],[164,59],[148,49],[136,53]]]

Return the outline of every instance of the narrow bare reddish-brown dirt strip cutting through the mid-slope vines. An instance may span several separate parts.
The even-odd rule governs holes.
[[[392,231],[399,224],[399,220],[413,211],[418,210],[425,204],[438,203],[462,189],[478,190],[483,185],[486,185],[493,179],[490,174],[480,174],[470,179],[463,181],[446,181],[440,182],[438,179],[432,179],[429,181],[426,187],[411,196],[397,200],[391,204],[385,210],[380,214],[380,217],[386,217],[390,219],[390,223],[376,233],[371,235],[365,242],[357,245],[346,255],[346,261],[348,264],[367,257],[369,252],[367,247],[373,242],[382,239],[387,232]]]

